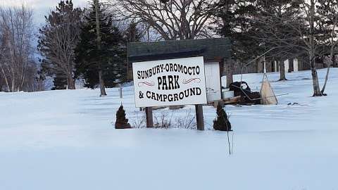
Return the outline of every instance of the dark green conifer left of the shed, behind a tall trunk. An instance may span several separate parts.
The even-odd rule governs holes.
[[[113,15],[99,4],[99,25],[101,34],[101,49],[96,44],[96,12],[95,7],[89,8],[84,19],[80,42],[75,52],[77,76],[83,77],[86,87],[95,88],[99,85],[99,70],[106,87],[115,87],[125,81],[125,60],[127,57],[123,36],[118,27],[113,24]]]

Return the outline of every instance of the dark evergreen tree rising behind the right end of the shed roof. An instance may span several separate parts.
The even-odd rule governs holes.
[[[242,63],[258,56],[261,47],[251,33],[256,30],[253,16],[258,12],[257,1],[219,0],[215,5],[215,32],[232,41],[232,58]]]

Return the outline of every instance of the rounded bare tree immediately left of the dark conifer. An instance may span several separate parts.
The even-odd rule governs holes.
[[[46,25],[39,30],[39,51],[46,58],[51,75],[61,73],[69,89],[75,89],[75,46],[79,41],[82,11],[73,8],[72,1],[61,1],[56,11],[46,17]]]

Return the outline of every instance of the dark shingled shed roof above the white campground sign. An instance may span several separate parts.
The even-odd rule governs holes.
[[[231,43],[227,38],[132,42],[127,49],[129,63],[190,56],[216,60],[231,56]]]

